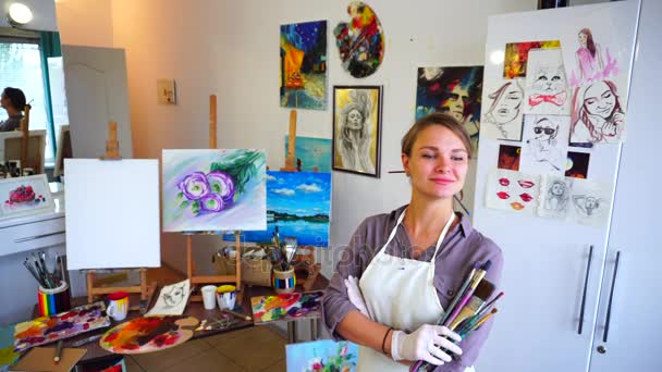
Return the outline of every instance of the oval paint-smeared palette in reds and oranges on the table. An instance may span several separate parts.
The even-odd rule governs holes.
[[[136,318],[106,332],[99,345],[114,354],[161,351],[187,342],[197,324],[197,319],[186,317]]]

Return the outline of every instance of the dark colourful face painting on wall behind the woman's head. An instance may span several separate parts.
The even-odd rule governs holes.
[[[416,120],[431,112],[445,112],[462,123],[478,145],[482,66],[419,67]]]

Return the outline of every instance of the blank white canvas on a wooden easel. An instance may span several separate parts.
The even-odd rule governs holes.
[[[160,266],[158,160],[64,164],[69,269]]]

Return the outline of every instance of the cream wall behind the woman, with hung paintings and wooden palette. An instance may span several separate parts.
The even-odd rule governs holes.
[[[58,3],[63,42],[76,44],[70,30],[94,34],[97,14],[110,0],[61,0]],[[94,3],[94,5],[93,5]],[[470,65],[485,61],[487,17],[491,14],[534,10],[537,0],[466,0],[441,2],[370,1],[387,37],[384,62],[378,72],[355,79],[342,71],[332,29],[346,21],[347,1],[176,1],[112,0],[112,25],[99,21],[91,42],[126,49],[134,156],[159,158],[163,148],[208,147],[208,96],[219,98],[219,147],[258,147],[268,151],[268,163],[284,163],[283,136],[289,110],[279,107],[279,26],[328,20],[329,92],[333,85],[383,85],[382,177],[333,173],[331,244],[347,243],[360,221],[408,201],[409,186],[401,169],[400,139],[414,121],[416,67]],[[90,8],[93,20],[74,20],[69,11]],[[69,24],[76,23],[77,24]],[[108,37],[108,29],[112,36]],[[81,41],[86,41],[81,39]],[[177,106],[159,106],[157,78],[174,78]],[[332,102],[332,99],[329,99]],[[298,111],[297,133],[331,138],[331,109]],[[473,200],[470,186],[465,200]],[[163,259],[185,269],[184,240],[164,234]],[[219,246],[212,238],[196,238],[200,261]],[[333,249],[326,253],[338,251]],[[327,255],[329,256],[329,255]],[[324,272],[333,266],[324,260]]]

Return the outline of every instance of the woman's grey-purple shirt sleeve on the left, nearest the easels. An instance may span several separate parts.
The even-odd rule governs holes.
[[[363,268],[365,268],[366,237],[367,226],[366,221],[364,221],[352,236],[350,245],[342,250],[335,273],[324,290],[322,319],[327,330],[329,330],[329,333],[335,340],[343,339],[343,337],[335,332],[338,324],[350,311],[356,310],[356,307],[347,297],[347,288],[345,287],[344,280],[350,275],[357,278],[360,277]]]

